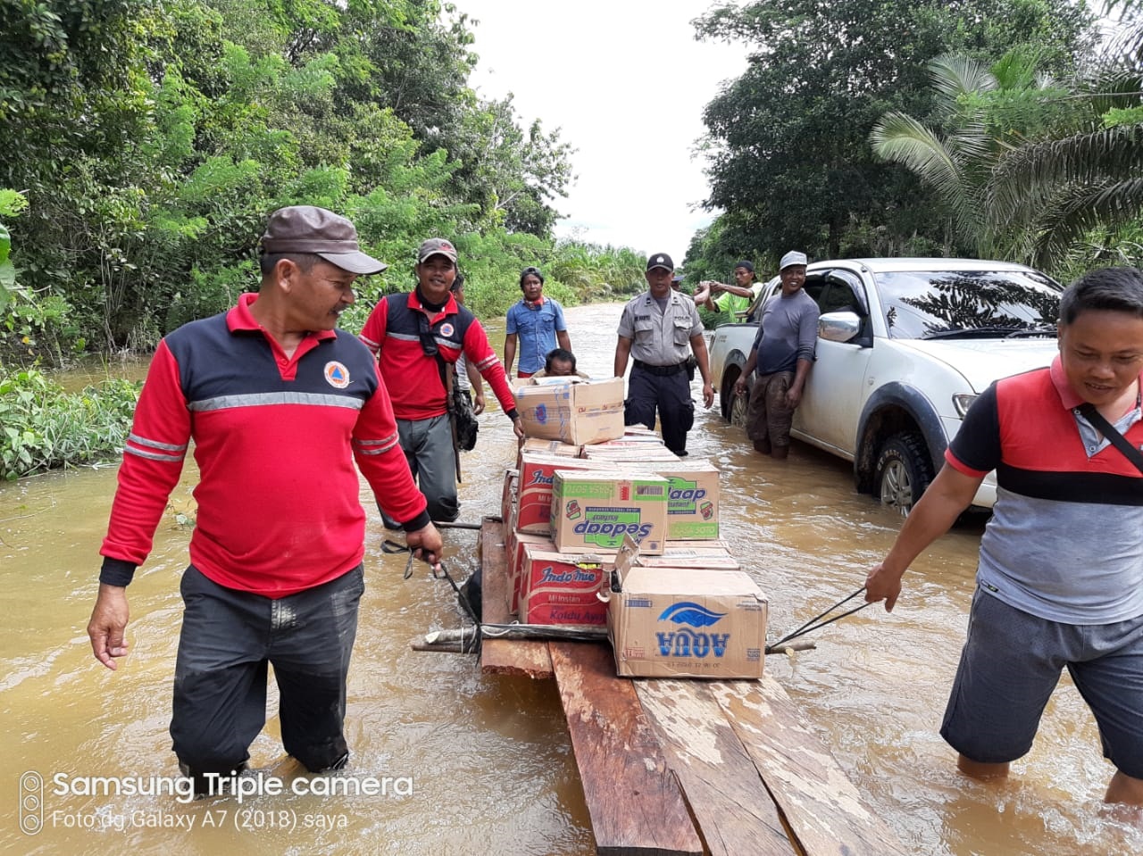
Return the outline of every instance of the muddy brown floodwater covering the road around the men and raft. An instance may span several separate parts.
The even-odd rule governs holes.
[[[610,375],[618,313],[617,305],[568,310],[580,366],[593,376]],[[503,321],[488,328],[502,351]],[[785,462],[762,458],[713,410],[698,416],[689,449],[722,471],[722,533],[769,597],[770,639],[860,587],[900,526],[854,491],[848,464],[800,445]],[[462,520],[497,513],[514,454],[510,424],[491,405],[477,449],[464,456]],[[251,761],[280,777],[285,793],[185,801],[169,789],[110,792],[112,782],[146,791],[176,781],[167,726],[197,475],[189,462],[154,552],[128,589],[131,654],[111,673],[93,659],[85,629],[115,471],[109,464],[0,486],[0,849],[594,853],[554,682],[486,677],[470,656],[409,649],[427,630],[459,626],[461,614],[448,584],[424,566],[402,579],[405,559],[382,552],[385,534],[363,486],[367,590],[343,792],[314,793],[330,783],[297,778],[303,771],[282,754],[273,687]],[[981,531],[956,529],[919,559],[892,615],[878,606],[845,618],[812,637],[816,650],[770,656],[767,670],[913,853],[1143,851],[1138,827],[1098,810],[1112,768],[1066,677],[1008,782],[983,785],[957,773],[937,729]],[[475,533],[445,535],[459,578],[474,566]],[[350,785],[359,792],[345,792]]]

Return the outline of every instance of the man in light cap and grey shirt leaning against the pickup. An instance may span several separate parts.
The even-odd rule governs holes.
[[[746,378],[757,370],[746,410],[746,435],[756,450],[775,458],[790,454],[793,411],[801,403],[817,343],[817,304],[801,288],[806,261],[806,254],[797,250],[782,256],[782,291],[762,306],[753,347],[734,384],[735,394],[743,394]]]

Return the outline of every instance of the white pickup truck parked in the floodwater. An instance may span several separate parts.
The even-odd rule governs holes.
[[[748,320],[718,327],[711,375],[722,416],[742,424],[734,382],[750,354]],[[815,262],[806,293],[822,315],[793,437],[854,464],[857,489],[908,514],[933,480],[973,400],[996,379],[1056,353],[1061,286],[1018,264],[960,258]],[[749,381],[752,378],[748,378]],[[994,474],[974,505],[992,507]]]

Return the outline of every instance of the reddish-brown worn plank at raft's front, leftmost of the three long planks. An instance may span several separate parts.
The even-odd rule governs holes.
[[[631,681],[597,642],[549,642],[601,856],[703,853]]]

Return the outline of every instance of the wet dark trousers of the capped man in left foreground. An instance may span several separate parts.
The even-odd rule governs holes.
[[[345,678],[357,635],[362,567],[271,600],[226,589],[191,566],[170,736],[190,773],[240,770],[266,722],[267,664],[280,695],[282,744],[311,773],[344,763]]]

